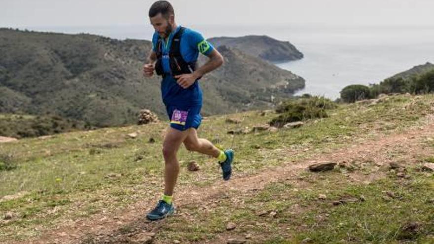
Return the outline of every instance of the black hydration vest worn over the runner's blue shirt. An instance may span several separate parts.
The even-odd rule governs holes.
[[[180,74],[186,74],[186,73],[192,73],[196,69],[196,62],[187,63],[182,58],[181,55],[181,36],[182,33],[185,31],[184,27],[180,27],[179,31],[173,36],[172,42],[170,44],[170,50],[169,50],[169,65],[170,70],[172,71],[172,75],[180,75]],[[156,55],[157,55],[157,62],[155,63],[155,72],[158,75],[161,75],[163,78],[169,75],[169,73],[164,72],[163,69],[163,62],[162,62],[162,42],[163,38],[158,37],[157,41],[157,48],[156,48]]]

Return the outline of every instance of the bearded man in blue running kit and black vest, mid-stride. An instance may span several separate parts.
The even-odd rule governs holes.
[[[181,143],[189,151],[217,158],[224,180],[231,176],[234,152],[232,149],[218,149],[209,140],[199,139],[196,132],[202,120],[202,90],[198,81],[223,64],[220,53],[200,33],[177,26],[174,9],[168,1],[154,2],[149,9],[149,19],[155,33],[143,71],[147,77],[151,77],[154,71],[162,76],[161,94],[170,119],[162,148],[165,161],[164,195],[155,209],[146,215],[149,220],[158,220],[175,210],[172,199],[180,171],[177,152]],[[199,53],[209,60],[198,68],[196,61]]]

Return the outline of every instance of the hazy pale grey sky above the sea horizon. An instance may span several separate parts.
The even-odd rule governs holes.
[[[153,0],[0,0],[0,27],[148,24]],[[172,0],[178,24],[434,25],[434,0]]]

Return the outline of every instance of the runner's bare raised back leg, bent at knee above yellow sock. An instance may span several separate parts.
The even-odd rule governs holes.
[[[187,131],[189,131],[188,136],[183,141],[187,150],[200,152],[215,158],[218,157],[220,149],[218,149],[211,141],[197,138],[197,131],[194,128],[190,128]]]

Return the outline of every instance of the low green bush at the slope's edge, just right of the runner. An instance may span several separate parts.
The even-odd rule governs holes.
[[[277,118],[272,119],[271,126],[282,127],[287,123],[302,121],[313,118],[328,117],[326,109],[336,108],[337,105],[324,97],[300,98],[289,100],[276,108],[281,113]]]

